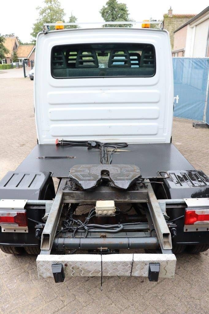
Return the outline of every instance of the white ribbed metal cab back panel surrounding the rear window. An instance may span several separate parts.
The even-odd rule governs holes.
[[[156,74],[146,78],[56,79],[51,76],[54,46],[100,42],[152,44],[156,52]],[[56,138],[170,142],[173,69],[166,31],[100,28],[40,33],[35,63],[35,118],[40,144],[55,143]]]

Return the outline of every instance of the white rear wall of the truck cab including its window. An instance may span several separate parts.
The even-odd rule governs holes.
[[[35,64],[40,144],[56,138],[170,143],[173,70],[167,31],[39,33]]]

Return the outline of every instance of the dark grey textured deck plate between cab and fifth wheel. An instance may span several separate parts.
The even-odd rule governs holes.
[[[74,156],[63,159],[38,159],[42,156]],[[99,149],[82,146],[38,144],[16,169],[17,171],[49,171],[53,177],[67,177],[74,165],[99,164]],[[193,170],[188,160],[172,143],[129,144],[113,154],[112,164],[137,165],[143,177],[156,176],[158,171]]]

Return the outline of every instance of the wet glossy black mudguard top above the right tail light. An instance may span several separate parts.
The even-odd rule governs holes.
[[[209,178],[203,171],[168,171],[170,178],[163,179],[171,199],[209,197]]]

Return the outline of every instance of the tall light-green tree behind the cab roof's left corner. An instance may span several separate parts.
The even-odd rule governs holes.
[[[58,0],[44,0],[43,8],[37,7],[39,18],[33,24],[33,31],[30,35],[33,37],[33,43],[37,34],[42,31],[44,23],[56,23],[56,21],[64,21],[64,9],[61,8],[61,3]]]

